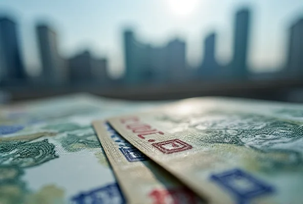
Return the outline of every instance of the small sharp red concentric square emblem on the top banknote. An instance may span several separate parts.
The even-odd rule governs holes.
[[[174,152],[184,151],[192,148],[191,145],[179,139],[153,143],[152,145],[162,151],[164,154],[171,154]]]

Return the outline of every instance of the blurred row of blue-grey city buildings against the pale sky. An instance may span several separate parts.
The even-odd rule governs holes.
[[[241,8],[234,14],[233,57],[221,65],[215,59],[217,34],[205,36],[198,67],[190,67],[186,59],[186,42],[171,39],[165,46],[141,42],[136,31],[124,30],[123,53],[125,74],[122,78],[109,77],[108,60],[94,57],[90,50],[64,59],[59,55],[57,34],[47,23],[36,24],[36,39],[41,61],[38,77],[29,77],[21,59],[17,20],[0,17],[0,85],[5,87],[79,87],[79,86],[138,86],[184,84],[191,82],[245,82],[259,79],[300,80],[303,76],[303,16],[290,25],[287,60],[276,72],[251,73],[247,64],[251,34],[251,13]],[[34,28],[33,28],[34,29]]]

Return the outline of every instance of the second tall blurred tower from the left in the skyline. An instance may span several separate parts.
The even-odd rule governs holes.
[[[58,53],[56,33],[46,24],[38,24],[36,32],[42,64],[42,79],[45,83],[52,85],[66,83],[67,67]]]

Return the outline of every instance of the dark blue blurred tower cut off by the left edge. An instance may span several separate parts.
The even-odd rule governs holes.
[[[14,20],[0,18],[0,78],[8,83],[26,79],[16,27]]]

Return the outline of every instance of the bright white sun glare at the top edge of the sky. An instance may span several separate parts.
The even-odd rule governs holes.
[[[197,6],[198,0],[167,0],[170,10],[180,16],[189,15]]]

